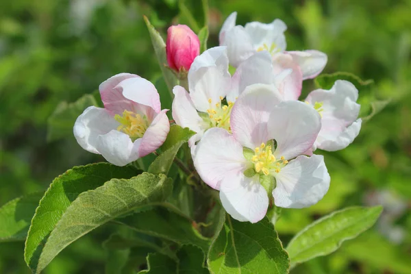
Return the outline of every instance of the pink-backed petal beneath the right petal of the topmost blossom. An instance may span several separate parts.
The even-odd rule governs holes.
[[[287,53],[275,53],[273,55],[273,70],[275,75],[284,75],[284,70],[291,69],[292,72],[282,77],[282,81],[276,81],[275,84],[282,93],[284,100],[297,100],[301,95],[303,87],[303,73],[291,55]]]

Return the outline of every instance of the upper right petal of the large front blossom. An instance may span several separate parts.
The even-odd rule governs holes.
[[[275,157],[292,159],[308,151],[321,129],[321,116],[300,101],[282,101],[271,108],[268,136],[277,141]]]

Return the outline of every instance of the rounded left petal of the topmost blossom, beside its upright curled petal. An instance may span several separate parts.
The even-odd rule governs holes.
[[[249,34],[240,25],[225,32],[225,39],[221,46],[227,46],[229,64],[235,67],[256,52]]]

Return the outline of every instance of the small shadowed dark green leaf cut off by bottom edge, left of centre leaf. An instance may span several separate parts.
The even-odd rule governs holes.
[[[208,274],[210,273],[204,267],[204,253],[198,247],[193,245],[184,245],[177,251],[179,259],[178,272],[179,274]]]

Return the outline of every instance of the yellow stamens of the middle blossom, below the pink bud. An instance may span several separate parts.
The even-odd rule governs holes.
[[[220,97],[220,102],[212,105],[212,99],[208,99],[210,103],[210,108],[207,110],[208,118],[210,119],[211,127],[222,127],[231,132],[231,127],[229,126],[229,116],[231,114],[234,103],[227,102],[227,105],[223,105],[223,97]]]

